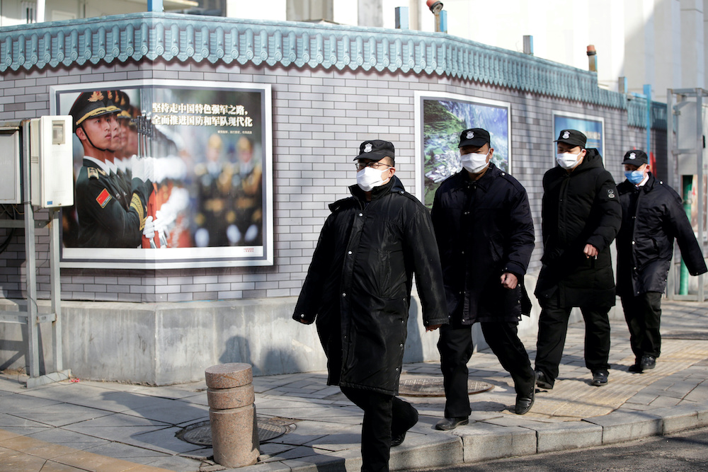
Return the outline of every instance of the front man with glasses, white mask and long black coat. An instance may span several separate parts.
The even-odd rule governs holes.
[[[329,385],[364,410],[362,468],[387,472],[418,412],[398,393],[413,272],[426,331],[447,323],[430,214],[394,175],[394,145],[361,144],[352,196],[330,205],[292,318],[317,323]]]

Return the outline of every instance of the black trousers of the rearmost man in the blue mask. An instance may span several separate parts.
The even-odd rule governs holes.
[[[629,344],[637,361],[642,355],[661,354],[661,293],[646,292],[636,297],[622,297],[624,320],[629,328]]]

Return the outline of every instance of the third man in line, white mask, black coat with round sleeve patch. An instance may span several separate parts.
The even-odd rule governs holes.
[[[566,342],[571,309],[585,319],[585,364],[593,386],[607,384],[610,321],[615,305],[610,243],[622,223],[612,175],[597,149],[586,149],[585,134],[563,129],[558,165],[543,176],[543,257],[536,284],[541,304],[535,359],[537,385],[553,388]]]

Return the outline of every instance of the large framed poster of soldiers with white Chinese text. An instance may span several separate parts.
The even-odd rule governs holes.
[[[271,99],[269,84],[50,87],[76,128],[61,266],[273,265]]]

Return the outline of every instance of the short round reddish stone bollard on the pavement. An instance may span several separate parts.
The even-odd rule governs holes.
[[[229,468],[256,464],[260,442],[251,365],[219,364],[204,375],[214,461]]]

